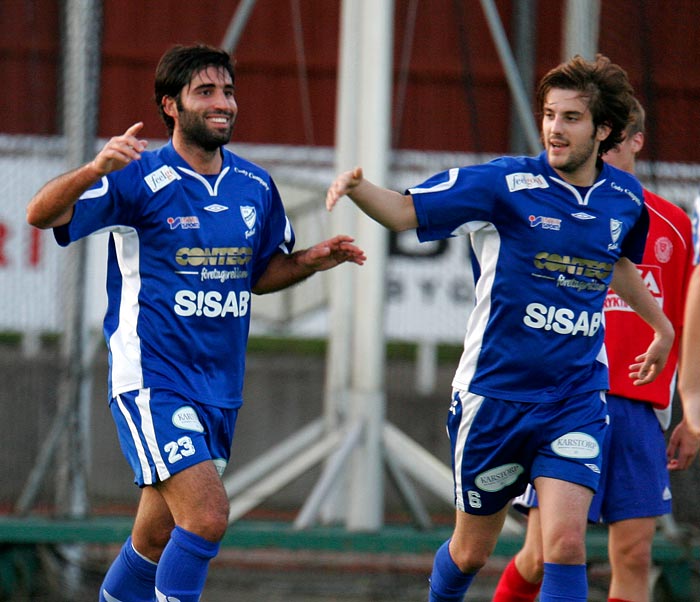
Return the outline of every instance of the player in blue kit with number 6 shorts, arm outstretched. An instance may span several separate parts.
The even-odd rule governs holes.
[[[492,553],[509,502],[533,481],[540,500],[540,600],[586,600],[585,530],[606,431],[608,287],[654,338],[630,367],[639,384],[663,368],[673,327],[634,265],[648,216],[642,187],[601,160],[633,105],[627,75],[606,57],[559,65],[537,93],[545,150],[436,174],[406,193],[361,168],[330,186],[392,230],[421,241],[468,235],[476,305],[448,413],[455,482],[452,537],[435,555],[431,602],[462,600]]]

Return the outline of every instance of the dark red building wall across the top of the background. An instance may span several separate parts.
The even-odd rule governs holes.
[[[508,32],[513,2],[496,3]],[[0,133],[61,132],[62,5],[0,3]],[[238,5],[104,2],[96,30],[102,39],[99,136],[143,120],[147,137],[165,137],[152,102],[158,58],[175,43],[220,45]],[[333,146],[340,5],[255,3],[235,52],[240,113],[234,140]],[[536,7],[535,82],[561,60],[565,2]],[[509,152],[511,97],[480,2],[396,0],[395,15],[394,147]],[[698,30],[700,3],[694,0],[601,2],[600,51],[628,70],[647,109],[642,159],[700,163]]]

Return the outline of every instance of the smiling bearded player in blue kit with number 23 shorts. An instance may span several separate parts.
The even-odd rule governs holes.
[[[242,404],[251,294],[365,260],[344,235],[292,252],[275,183],[224,148],[238,113],[228,53],[168,50],[155,100],[167,145],[147,151],[134,124],[27,208],[61,245],[111,232],[110,408],[141,499],[104,602],[199,600],[228,526],[221,474]]]

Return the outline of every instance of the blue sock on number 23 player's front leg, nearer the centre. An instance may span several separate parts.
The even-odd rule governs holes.
[[[180,602],[198,602],[207,578],[209,561],[218,551],[219,542],[212,543],[181,527],[175,527],[158,563],[158,598],[169,600],[172,597]]]

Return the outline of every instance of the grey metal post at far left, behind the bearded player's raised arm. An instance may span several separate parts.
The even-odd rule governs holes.
[[[94,156],[97,130],[97,106],[100,73],[101,3],[99,0],[66,2],[65,61],[63,90],[63,129],[66,137],[66,162],[81,165]],[[67,412],[69,428],[58,454],[56,503],[60,513],[84,517],[88,513],[87,475],[90,459],[90,365],[89,332],[85,320],[87,242],[80,241],[68,250],[65,283],[66,322],[62,337],[63,371],[58,407]],[[68,593],[78,591],[83,578],[82,545],[63,546],[70,559],[63,573]]]

